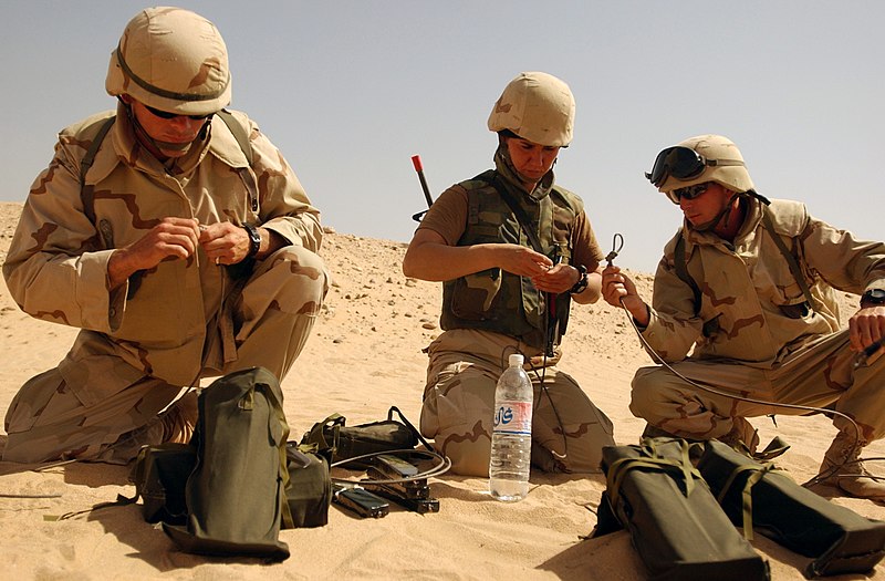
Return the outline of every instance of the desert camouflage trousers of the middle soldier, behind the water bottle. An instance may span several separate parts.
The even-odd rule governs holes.
[[[508,355],[521,352],[528,361],[538,350],[498,333],[452,330],[428,351],[421,434],[435,439],[455,474],[488,476],[498,377]],[[546,471],[598,471],[602,447],[614,445],[612,422],[555,367],[530,371],[529,377],[534,386],[532,465]]]

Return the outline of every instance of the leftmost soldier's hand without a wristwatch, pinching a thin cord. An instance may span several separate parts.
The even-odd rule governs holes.
[[[116,249],[107,261],[111,288],[116,288],[138,270],[147,270],[166,259],[188,258],[197,250],[199,228],[192,218],[168,217],[139,240]]]

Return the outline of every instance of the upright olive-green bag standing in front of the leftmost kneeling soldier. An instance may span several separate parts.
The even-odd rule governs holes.
[[[187,479],[184,525],[163,529],[186,552],[283,560],[279,540],[291,526],[289,425],[277,377],[252,367],[216,380],[198,397],[191,440],[196,464]]]

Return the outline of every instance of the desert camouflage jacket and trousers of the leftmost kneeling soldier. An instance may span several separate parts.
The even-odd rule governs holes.
[[[111,114],[60,134],[3,264],[22,310],[82,329],[59,366],[28,381],[10,405],[8,460],[127,460],[129,447],[108,450],[107,445],[137,428],[162,434],[156,415],[181,386],[256,365],[284,376],[326,292],[327,274],[316,255],[319,211],[279,151],[242,113],[235,116],[249,131],[251,168],[216,117],[204,142],[167,170],[138,145],[118,106],[86,175],[94,197],[90,219],[81,199],[80,162]],[[206,225],[260,225],[289,246],[256,261],[251,272],[217,266],[199,250],[187,260],[139,271],[108,291],[113,249],[138,240],[168,216]],[[171,422],[177,425],[165,426],[164,439],[169,429],[185,429],[192,415],[192,401],[183,404]]]

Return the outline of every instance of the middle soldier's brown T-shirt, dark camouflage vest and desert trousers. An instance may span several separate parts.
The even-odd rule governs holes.
[[[549,246],[551,256],[555,247],[563,262],[595,270],[602,251],[580,198],[565,190],[551,195],[551,172],[532,194],[535,201],[527,203],[529,194],[510,177],[500,154],[496,156],[496,165],[503,186],[514,193],[533,221],[541,225],[538,235],[541,243]],[[481,206],[485,209],[478,211],[479,216],[475,215],[469,199],[477,191],[498,197],[486,181],[465,181],[434,203],[420,228],[437,231],[452,246],[483,241],[530,246],[524,232],[517,234],[519,228],[509,210],[492,211],[494,204],[490,204]],[[468,208],[458,209],[465,199]],[[450,239],[459,230],[458,225],[451,224],[452,214],[459,216],[459,212],[467,214],[467,224],[460,227],[461,236]],[[496,222],[498,227],[489,226]],[[465,298],[465,292],[470,295]],[[564,307],[568,314],[568,293],[560,294],[558,301],[560,331],[564,331],[562,313]],[[543,295],[531,281],[500,269],[445,283],[441,317],[445,332],[427,349],[430,362],[420,426],[421,433],[434,438],[440,452],[451,459],[456,474],[488,476],[494,388],[507,367],[508,355],[517,352],[525,356],[527,370],[535,367],[529,372],[534,386],[532,464],[548,471],[595,471],[602,446],[614,444],[610,419],[572,377],[554,366],[559,354],[542,367],[545,308]]]

